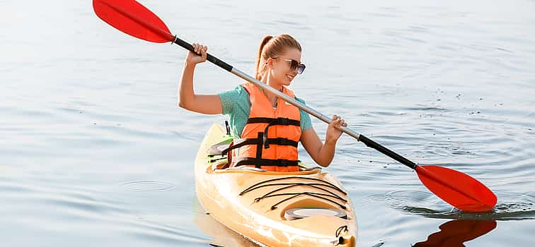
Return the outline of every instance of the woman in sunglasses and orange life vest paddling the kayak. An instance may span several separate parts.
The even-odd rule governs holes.
[[[238,85],[234,90],[218,95],[197,95],[193,91],[193,73],[195,65],[206,61],[208,47],[195,43],[193,47],[195,53],[202,56],[188,52],[180,80],[178,105],[203,114],[229,114],[235,138],[229,152],[231,167],[246,165],[269,171],[297,171],[299,141],[316,163],[328,167],[342,134],[339,128],[347,126],[343,119],[333,116],[327,127],[325,143],[322,143],[306,112],[252,83]],[[258,49],[255,78],[294,97],[287,86],[304,68],[301,45],[292,36],[264,37]]]

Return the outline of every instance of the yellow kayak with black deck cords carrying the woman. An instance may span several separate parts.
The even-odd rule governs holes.
[[[321,169],[227,168],[231,137],[214,124],[195,159],[197,197],[207,212],[262,246],[355,246],[357,220],[340,183]]]

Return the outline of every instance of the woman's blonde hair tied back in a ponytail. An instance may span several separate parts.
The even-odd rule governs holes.
[[[286,49],[295,48],[301,52],[301,44],[290,35],[277,35],[275,37],[266,35],[260,47],[258,48],[258,56],[256,57],[255,78],[262,79],[262,74],[265,71],[266,61],[269,58],[275,58],[283,54]]]

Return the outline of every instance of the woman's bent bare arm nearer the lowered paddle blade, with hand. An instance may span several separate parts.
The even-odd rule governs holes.
[[[333,116],[333,121],[330,121],[327,127],[327,133],[325,136],[325,143],[322,143],[314,128],[309,128],[301,133],[301,143],[306,152],[309,152],[310,157],[321,165],[322,167],[328,167],[330,162],[333,161],[336,142],[342,131],[340,126],[347,126],[344,119],[340,116]]]

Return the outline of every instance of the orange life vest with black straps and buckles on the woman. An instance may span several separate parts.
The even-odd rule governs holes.
[[[231,146],[231,167],[249,166],[267,171],[299,171],[297,143],[301,138],[299,108],[278,99],[277,108],[252,83],[243,84],[251,100],[251,113],[241,139]],[[294,92],[282,87],[294,98]],[[239,147],[239,150],[234,148]]]

